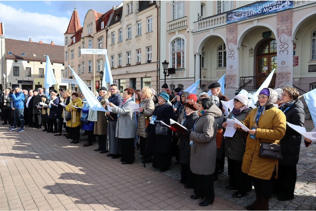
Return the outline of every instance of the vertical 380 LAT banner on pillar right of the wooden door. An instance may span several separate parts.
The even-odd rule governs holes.
[[[276,88],[291,85],[291,71],[293,71],[292,44],[293,10],[276,14],[276,43],[277,43],[277,71]]]

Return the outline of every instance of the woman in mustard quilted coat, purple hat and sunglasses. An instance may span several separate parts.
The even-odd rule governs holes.
[[[277,92],[264,88],[258,95],[258,108],[254,108],[242,123],[249,128],[246,141],[246,152],[242,161],[242,172],[252,177],[256,192],[256,201],[246,207],[247,210],[269,210],[269,199],[272,197],[271,177],[277,178],[278,161],[259,157],[260,143],[279,144],[286,129],[286,117],[274,107]],[[234,128],[241,128],[235,124]]]

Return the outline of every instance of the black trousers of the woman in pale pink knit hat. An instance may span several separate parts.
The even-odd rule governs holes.
[[[241,192],[252,190],[251,177],[241,171],[242,161],[228,158],[229,183]]]

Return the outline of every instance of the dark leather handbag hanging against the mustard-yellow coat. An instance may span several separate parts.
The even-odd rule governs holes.
[[[281,146],[279,144],[262,142],[260,143],[259,157],[282,160]]]

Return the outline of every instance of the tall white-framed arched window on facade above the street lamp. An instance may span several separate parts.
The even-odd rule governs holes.
[[[177,38],[171,44],[172,67],[184,68],[184,39]]]

